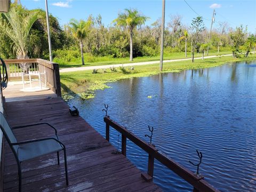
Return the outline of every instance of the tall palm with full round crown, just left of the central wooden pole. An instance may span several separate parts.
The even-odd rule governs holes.
[[[140,14],[135,9],[125,9],[124,13],[119,13],[118,17],[113,21],[117,26],[127,27],[130,33],[130,61],[133,60],[132,55],[132,37],[133,30],[137,28],[137,26],[141,26],[145,23],[148,17]]]

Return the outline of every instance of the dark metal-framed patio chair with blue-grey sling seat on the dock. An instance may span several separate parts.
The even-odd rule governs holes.
[[[30,127],[36,125],[48,125],[55,131],[55,136],[50,138],[43,138],[43,139],[35,139],[29,141],[22,141],[17,142],[17,139],[12,131],[12,129],[19,129],[23,127]],[[58,157],[58,165],[60,164],[60,157],[59,151],[63,150],[64,152],[64,161],[65,161],[65,172],[66,172],[66,183],[68,185],[68,169],[67,169],[67,155],[66,155],[66,147],[65,145],[59,140],[57,130],[50,125],[49,123],[36,123],[36,124],[29,124],[29,125],[22,125],[12,127],[6,121],[3,113],[0,112],[0,127],[6,138],[7,142],[9,143],[12,152],[15,156],[15,159],[18,164],[18,174],[19,174],[19,192],[21,192],[21,162],[27,161],[32,158],[36,158],[42,155],[55,153],[57,152]]]

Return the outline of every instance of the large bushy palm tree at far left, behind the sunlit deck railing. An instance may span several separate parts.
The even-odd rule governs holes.
[[[13,42],[17,59],[28,59],[28,35],[34,22],[40,18],[39,12],[24,12],[21,5],[14,4],[9,13],[3,14],[7,19],[3,22],[3,28]],[[23,71],[27,71],[30,65],[30,63],[20,63]]]

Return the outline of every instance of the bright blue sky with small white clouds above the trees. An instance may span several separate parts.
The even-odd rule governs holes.
[[[227,21],[230,27],[235,28],[243,24],[247,25],[248,31],[256,33],[256,1],[190,1],[187,3],[205,19],[211,19],[213,7],[216,10],[215,23],[213,28],[218,27],[218,22]],[[28,9],[45,9],[44,0],[21,0],[21,4]],[[211,7],[210,7],[211,6]],[[162,17],[162,1],[109,1],[109,0],[48,0],[49,12],[59,19],[61,25],[69,22],[71,18],[86,19],[90,14],[96,17],[101,14],[103,23],[111,24],[119,12],[125,8],[138,9],[141,13],[150,17],[147,25],[150,25]],[[169,1],[165,3],[165,19],[170,21],[170,15],[182,15],[182,22],[190,25],[191,20],[197,17],[190,7],[183,0]],[[204,20],[205,26],[210,28],[211,21]]]

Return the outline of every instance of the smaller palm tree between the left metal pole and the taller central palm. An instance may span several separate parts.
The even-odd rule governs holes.
[[[89,18],[87,21],[71,19],[69,22],[71,33],[77,39],[80,44],[82,65],[84,65],[84,54],[83,54],[83,40],[87,37],[91,30],[92,20]]]

